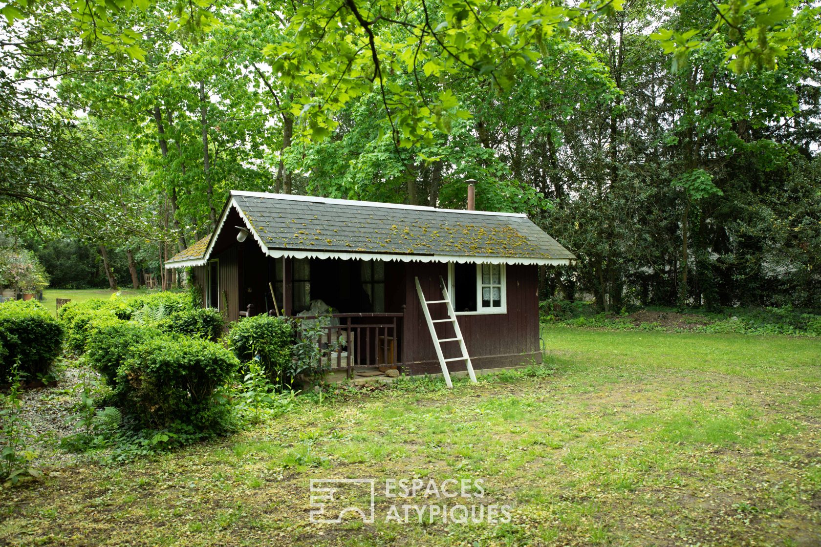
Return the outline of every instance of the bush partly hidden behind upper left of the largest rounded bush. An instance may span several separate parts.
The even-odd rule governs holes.
[[[116,389],[117,370],[131,357],[135,347],[158,335],[158,330],[131,321],[113,317],[98,319],[89,330],[85,358],[103,380]]]

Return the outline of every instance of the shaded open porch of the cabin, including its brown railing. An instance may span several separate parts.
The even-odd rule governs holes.
[[[275,258],[266,256],[251,238],[219,238],[214,250],[204,267],[205,300],[225,310],[229,320],[268,314],[315,321],[321,313],[331,321],[323,326],[319,344],[323,365],[332,372],[354,378],[377,367],[401,367],[406,309],[401,264]],[[318,306],[328,313],[318,313]]]

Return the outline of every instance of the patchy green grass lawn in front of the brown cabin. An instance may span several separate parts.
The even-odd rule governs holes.
[[[544,340],[528,375],[399,382],[172,454],[52,467],[3,490],[0,543],[819,545],[821,340]],[[311,524],[312,478],[376,479],[375,522]],[[403,478],[482,479],[467,503],[508,504],[511,522],[385,522],[384,481]]]

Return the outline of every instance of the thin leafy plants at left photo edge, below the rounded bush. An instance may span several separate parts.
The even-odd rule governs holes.
[[[8,376],[3,376],[2,381],[8,381],[11,388],[8,394],[0,394],[0,481],[9,481],[15,485],[25,476],[37,478],[42,473],[31,465],[36,457],[27,444],[31,424],[25,421],[21,412],[24,374],[17,364],[8,372]]]

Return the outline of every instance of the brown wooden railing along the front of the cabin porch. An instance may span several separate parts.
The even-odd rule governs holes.
[[[332,371],[345,370],[349,378],[356,367],[401,366],[399,333],[404,313],[334,313],[330,317],[338,319],[339,325],[323,327],[319,340],[320,347],[327,349],[323,365]]]

